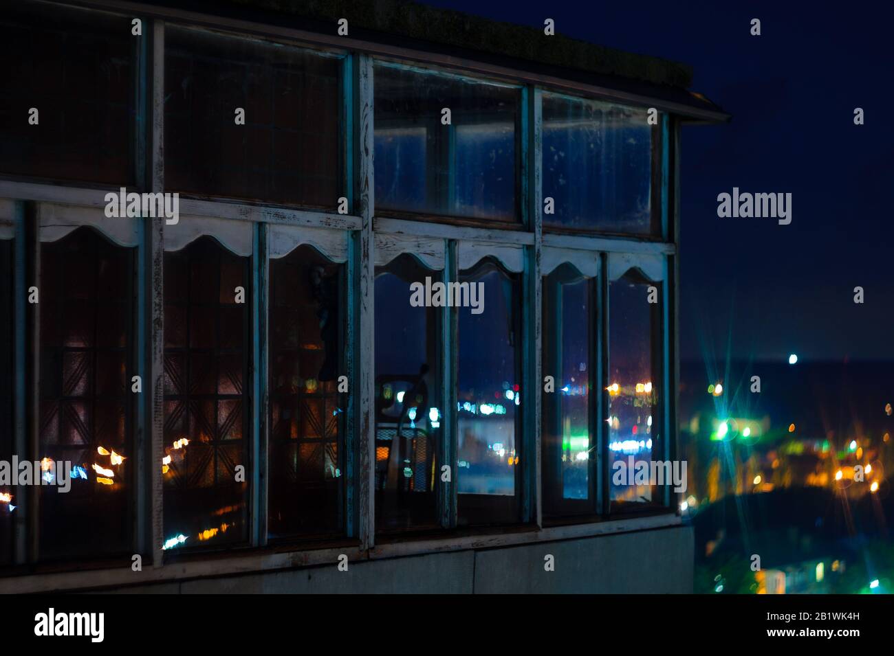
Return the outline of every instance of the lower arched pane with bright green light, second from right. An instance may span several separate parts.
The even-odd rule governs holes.
[[[555,380],[542,406],[544,513],[595,512],[589,405],[595,285],[565,264],[544,278],[543,294],[543,370]]]

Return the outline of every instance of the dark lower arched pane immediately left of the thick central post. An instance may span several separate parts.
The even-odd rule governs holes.
[[[270,261],[269,535],[344,527],[344,266],[300,245]]]

